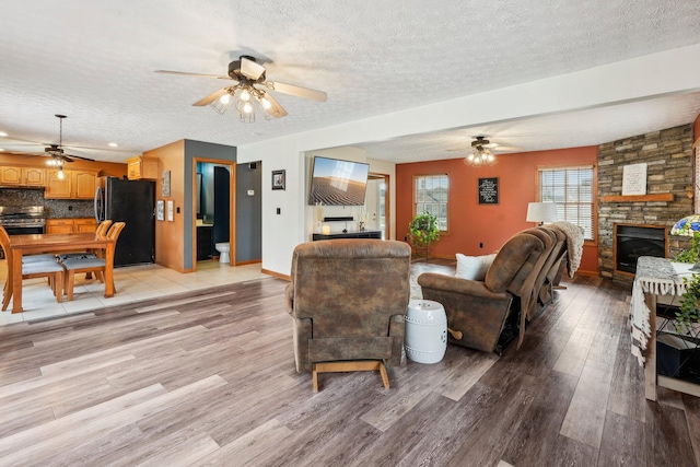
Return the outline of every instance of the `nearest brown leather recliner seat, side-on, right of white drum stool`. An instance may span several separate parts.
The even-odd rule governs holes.
[[[425,272],[418,277],[418,283],[423,299],[444,306],[447,326],[455,331],[448,336],[450,342],[498,352],[499,338],[511,313],[517,318],[518,313],[525,316],[529,310],[546,253],[539,236],[521,232],[501,247],[483,281]],[[516,306],[512,306],[514,299]],[[524,332],[525,327],[521,326],[521,342]]]

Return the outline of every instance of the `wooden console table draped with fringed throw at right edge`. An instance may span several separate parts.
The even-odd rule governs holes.
[[[656,374],[656,301],[658,295],[678,297],[686,292],[682,277],[691,273],[685,270],[676,270],[667,258],[642,256],[637,261],[630,305],[632,354],[644,365],[644,395],[649,400],[656,400],[656,385],[700,397],[700,385]]]

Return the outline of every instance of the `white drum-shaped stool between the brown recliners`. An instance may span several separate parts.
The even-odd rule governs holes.
[[[438,363],[447,349],[445,308],[432,300],[411,300],[406,312],[406,357],[418,363]]]

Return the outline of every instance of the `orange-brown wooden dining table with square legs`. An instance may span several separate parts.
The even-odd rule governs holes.
[[[22,278],[22,257],[40,253],[104,250],[105,297],[114,296],[114,249],[116,241],[94,232],[72,234],[10,235],[12,277]],[[62,291],[60,292],[62,293]],[[12,281],[12,313],[22,313],[22,280]]]

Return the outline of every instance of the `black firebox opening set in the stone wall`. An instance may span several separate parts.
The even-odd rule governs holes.
[[[633,275],[640,256],[665,258],[667,245],[664,225],[615,224],[615,270]]]

